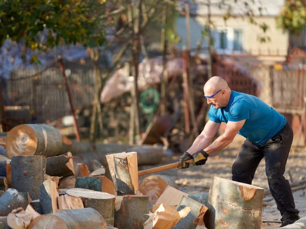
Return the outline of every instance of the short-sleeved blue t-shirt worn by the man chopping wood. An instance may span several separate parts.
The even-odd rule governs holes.
[[[230,101],[225,108],[211,106],[208,117],[218,123],[246,119],[238,134],[257,145],[264,145],[286,124],[283,115],[259,98],[236,91],[231,91]]]

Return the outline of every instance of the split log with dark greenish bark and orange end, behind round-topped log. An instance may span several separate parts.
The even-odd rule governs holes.
[[[106,176],[78,177],[76,178],[75,187],[106,192],[112,195],[117,194],[113,182],[110,181]]]

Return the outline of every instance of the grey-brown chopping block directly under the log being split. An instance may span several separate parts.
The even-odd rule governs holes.
[[[148,196],[117,196],[114,227],[143,229],[149,218],[146,214],[149,214]]]

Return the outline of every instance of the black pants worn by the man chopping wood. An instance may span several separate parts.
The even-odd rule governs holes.
[[[298,220],[289,181],[285,179],[285,166],[293,141],[293,131],[289,123],[264,145],[245,140],[232,167],[233,181],[252,184],[255,171],[262,158],[266,162],[266,175],[272,197],[282,215],[282,221],[293,223]]]

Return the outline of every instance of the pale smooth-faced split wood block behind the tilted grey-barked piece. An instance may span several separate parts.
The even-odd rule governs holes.
[[[167,186],[165,188],[165,191],[161,194],[155,204],[166,204],[175,206],[179,204],[183,196],[188,196],[188,194],[174,187]]]

